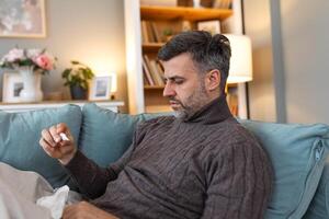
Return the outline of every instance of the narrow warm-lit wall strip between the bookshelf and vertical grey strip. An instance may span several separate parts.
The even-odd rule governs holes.
[[[245,0],[243,5],[253,60],[253,80],[248,83],[250,118],[276,122],[270,0]]]

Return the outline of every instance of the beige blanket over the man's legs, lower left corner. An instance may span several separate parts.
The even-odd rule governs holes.
[[[56,194],[50,184],[39,174],[20,171],[5,163],[0,163],[1,219],[60,218],[64,205],[60,206],[60,216],[54,217],[54,212],[49,207],[36,204],[37,200],[41,203],[45,199],[49,203],[57,196],[58,193]],[[70,192],[69,196],[69,203],[76,203],[81,199],[77,193]],[[56,205],[56,203],[54,204]]]

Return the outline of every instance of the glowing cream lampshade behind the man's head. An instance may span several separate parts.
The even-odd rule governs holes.
[[[231,58],[227,83],[252,80],[251,41],[246,35],[225,34],[230,42]]]

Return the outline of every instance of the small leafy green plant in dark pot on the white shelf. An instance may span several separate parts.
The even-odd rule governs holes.
[[[88,82],[94,74],[90,67],[76,60],[71,60],[71,68],[63,71],[61,78],[65,79],[64,85],[70,88],[73,100],[87,100]]]

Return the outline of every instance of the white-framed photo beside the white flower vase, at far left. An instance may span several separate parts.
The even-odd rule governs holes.
[[[2,85],[2,102],[4,103],[19,103],[21,102],[20,93],[23,85],[23,78],[20,73],[3,73]]]

